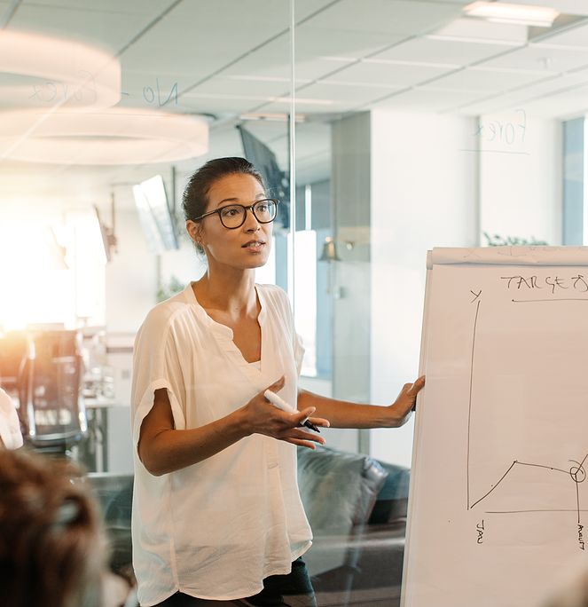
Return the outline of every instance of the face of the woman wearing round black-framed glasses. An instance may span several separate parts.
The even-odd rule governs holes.
[[[247,207],[263,198],[267,198],[263,186],[252,175],[227,175],[209,189],[205,212],[230,204]],[[208,267],[221,264],[243,270],[258,268],[270,256],[272,224],[260,224],[251,210],[247,210],[245,223],[232,230],[224,227],[218,214],[204,217],[200,224],[188,224],[192,224],[188,225],[190,235],[204,248]]]

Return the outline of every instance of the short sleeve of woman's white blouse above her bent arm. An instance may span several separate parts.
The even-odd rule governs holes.
[[[162,318],[163,317],[163,318]],[[184,384],[177,344],[169,319],[153,309],[139,328],[133,350],[131,424],[133,443],[138,445],[141,424],[153,407],[155,390],[168,390],[176,430],[184,430]]]

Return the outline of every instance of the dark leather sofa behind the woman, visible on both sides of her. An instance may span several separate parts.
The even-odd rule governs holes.
[[[327,447],[299,448],[298,481],[314,533],[304,556],[318,604],[400,603],[410,470]],[[131,572],[132,477],[88,475],[112,544],[112,567]]]

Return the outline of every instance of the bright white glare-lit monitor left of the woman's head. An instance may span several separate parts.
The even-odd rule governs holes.
[[[133,196],[149,251],[160,255],[179,248],[175,217],[169,209],[161,175],[133,185]]]

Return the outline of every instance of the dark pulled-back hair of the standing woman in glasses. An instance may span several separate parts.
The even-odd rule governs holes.
[[[204,215],[208,207],[208,192],[210,188],[223,177],[227,175],[251,175],[262,185],[262,174],[255,169],[254,165],[245,158],[231,156],[228,158],[216,158],[203,164],[200,169],[190,177],[188,184],[184,189],[182,198],[182,209],[184,209],[185,220],[195,221],[196,217]],[[203,251],[197,245],[199,252]]]

